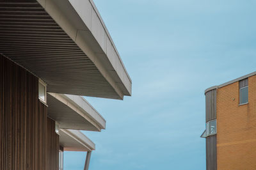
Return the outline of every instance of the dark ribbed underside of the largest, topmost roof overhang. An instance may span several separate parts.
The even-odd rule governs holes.
[[[122,99],[44,8],[26,2],[0,1],[0,54],[40,77],[49,92]]]

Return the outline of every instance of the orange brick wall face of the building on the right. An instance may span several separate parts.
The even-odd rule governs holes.
[[[248,104],[239,105],[239,82],[217,89],[218,170],[256,169],[256,75],[248,93]]]

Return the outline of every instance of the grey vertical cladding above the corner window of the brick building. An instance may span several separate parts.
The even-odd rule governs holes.
[[[216,120],[216,89],[205,93],[205,121]]]

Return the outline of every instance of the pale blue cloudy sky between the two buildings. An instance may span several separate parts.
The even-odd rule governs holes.
[[[95,0],[132,79],[132,97],[85,97],[106,130],[90,170],[205,169],[204,90],[256,66],[256,1]],[[65,170],[86,153],[65,152]]]

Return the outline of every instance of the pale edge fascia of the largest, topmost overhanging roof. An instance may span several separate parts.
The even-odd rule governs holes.
[[[93,1],[37,0],[90,58],[122,99],[132,82]]]

